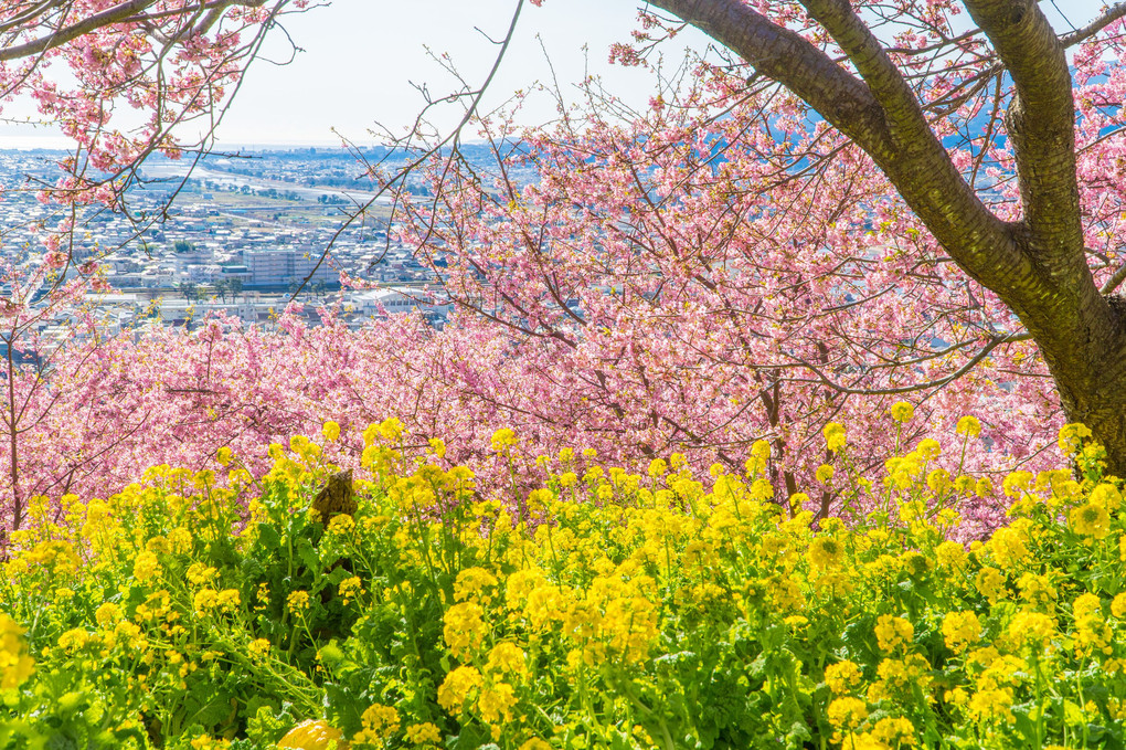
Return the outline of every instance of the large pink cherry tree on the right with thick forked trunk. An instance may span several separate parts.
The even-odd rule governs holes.
[[[687,25],[717,50],[642,111],[593,80],[540,128],[480,116],[465,87],[494,168],[419,146],[428,195],[400,193],[396,222],[539,408],[492,398],[545,429],[568,414],[635,455],[730,466],[768,437],[794,491],[832,457],[823,425],[875,456],[906,399],[900,438],[974,412],[985,450],[1031,461],[1081,421],[1123,473],[1124,16],[1057,32],[1030,0],[658,0],[613,57],[659,72]]]

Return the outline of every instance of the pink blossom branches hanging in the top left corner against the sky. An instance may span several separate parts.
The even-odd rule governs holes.
[[[0,93],[74,142],[43,198],[125,209],[137,164],[211,144],[266,33],[307,0],[10,0]],[[57,239],[54,240],[57,242]]]

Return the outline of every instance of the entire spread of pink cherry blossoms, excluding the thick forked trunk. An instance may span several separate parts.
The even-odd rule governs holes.
[[[186,37],[173,32],[194,17],[187,12],[191,3],[145,5],[170,27],[169,44],[179,50],[175,41]],[[1053,51],[1040,56],[1044,64],[1063,65],[1060,80],[1045,87],[1065,104],[1062,110],[1048,107],[1062,123],[1061,137],[1051,142],[1073,153],[1044,161],[1060,172],[1058,179],[1046,179],[1047,187],[1069,191],[1047,204],[1069,215],[1062,224],[1042,222],[1072,227],[1060,242],[1036,239],[1036,226],[1020,230],[1030,221],[1026,214],[1035,197],[1025,190],[1020,164],[1048,173],[1031,168],[1039,163],[1033,155],[1018,158],[1019,140],[1011,137],[1021,109],[1020,61],[1011,51],[999,52],[997,34],[985,26],[954,32],[964,23],[962,7],[974,10],[981,2],[854,3],[857,28],[866,27],[869,42],[886,53],[887,80],[902,79],[901,95],[917,100],[922,122],[911,131],[918,137],[908,140],[932,141],[929,161],[899,172],[885,169],[872,143],[851,139],[849,128],[816,114],[816,101],[776,83],[786,83],[786,77],[763,73],[762,61],[720,51],[718,61],[694,59],[679,74],[662,77],[654,45],[677,29],[646,14],[635,46],[618,46],[613,54],[653,68],[647,107],[625,109],[588,81],[587,96],[573,107],[561,95],[561,117],[547,127],[522,128],[512,113],[468,116],[467,128],[484,139],[473,159],[453,148],[454,139],[438,150],[429,148],[432,142],[409,141],[420,158],[410,176],[385,173],[365,161],[374,189],[414,190],[393,202],[386,229],[431,267],[435,293],[455,303],[444,330],[396,316],[360,331],[332,321],[311,331],[296,318],[283,318],[278,334],[221,321],[195,332],[129,331],[106,341],[81,325],[66,347],[52,349],[65,338],[55,323],[82,292],[105,286],[95,262],[100,249],[82,235],[82,221],[106,205],[120,207],[134,175],[126,166],[151,148],[176,153],[163,125],[142,128],[135,134],[140,140],[131,140],[109,130],[109,119],[98,131],[75,117],[100,113],[99,101],[129,99],[133,89],[153,93],[146,77],[160,71],[152,55],[184,72],[173,80],[187,88],[176,97],[193,86],[206,89],[206,96],[197,91],[191,99],[191,113],[221,107],[221,87],[207,87],[222,82],[231,90],[260,34],[278,14],[301,5],[217,3],[216,12],[224,8],[226,15],[193,26],[200,34],[191,36],[190,51],[177,52],[180,56],[161,57],[144,42],[141,32],[149,27],[140,18],[107,21],[89,38],[57,39],[60,46],[51,48],[48,56],[81,72],[80,92],[51,88],[38,69],[20,83],[20,90],[43,83],[45,111],[86,139],[79,158],[62,167],[87,181],[74,187],[71,176],[44,193],[63,211],[60,223],[39,227],[50,251],[39,266],[0,269],[0,341],[27,359],[50,359],[39,368],[20,367],[19,357],[0,363],[8,381],[0,414],[6,516],[18,518],[24,501],[38,493],[116,492],[153,463],[199,471],[223,446],[253,461],[254,446],[307,432],[325,419],[345,428],[342,449],[333,456],[339,463],[358,465],[356,436],[363,426],[397,414],[412,440],[441,436],[454,459],[488,482],[493,479],[489,436],[504,426],[518,429],[530,456],[590,445],[631,471],[680,452],[696,468],[720,462],[735,472],[749,446],[767,439],[771,480],[787,493],[813,481],[824,459],[821,429],[832,421],[852,426],[855,458],[866,471],[882,463],[893,446],[881,414],[897,399],[922,412],[911,425],[912,440],[937,438],[958,416],[977,414],[988,440],[968,448],[974,471],[997,472],[1015,465],[1013,458],[1033,472],[1047,467],[1053,456],[1045,448],[1064,421],[1061,405],[1091,425],[1108,447],[1114,448],[1110,437],[1126,435],[1111,429],[1126,413],[1116,401],[1126,393],[1115,385],[1119,367],[1126,367],[1117,355],[1126,349],[1115,343],[1119,327],[1110,306],[1117,302],[1099,298],[1094,288],[1111,295],[1126,283],[1117,239],[1126,215],[1120,189],[1126,9],[1117,6],[1067,34],[1040,23],[1036,3],[1025,14],[1039,24],[1037,34]],[[753,8],[776,33],[794,34],[831,57],[832,70],[843,77],[832,82],[856,83],[839,91],[867,87],[860,79],[870,71],[849,62],[847,44],[834,48],[839,28],[815,10],[838,3],[697,5],[727,6],[744,20]],[[173,8],[187,16],[168,15]],[[34,36],[41,27],[28,21],[19,34]],[[126,38],[131,44],[117,44]],[[114,55],[119,60],[108,72],[89,69],[91,60]],[[131,71],[134,78],[126,75]],[[154,100],[144,96],[129,104],[149,111]],[[1033,106],[1027,97],[1024,104]],[[900,128],[876,128],[884,130]],[[494,168],[482,168],[479,157],[490,151]],[[427,153],[434,159],[423,159]],[[93,180],[87,161],[109,170],[108,181],[98,181],[100,173]],[[933,215],[921,211],[918,196],[903,194],[903,180],[895,178],[940,168],[947,187],[960,186],[954,197],[974,198],[974,211],[959,215],[965,206],[941,190],[928,200],[946,206],[939,213],[953,217],[946,223],[959,232],[976,225],[967,215],[982,220],[992,234],[966,231],[988,249],[986,262],[967,266],[968,240],[936,234]],[[423,182],[426,196],[418,193]],[[83,202],[92,204],[83,208]],[[359,211],[356,220],[374,217]],[[379,221],[386,217],[381,214]],[[1036,239],[1036,253],[1021,244],[1029,238]],[[1066,256],[1058,268],[1070,270],[1042,276],[1070,279],[1083,293],[1042,296],[1053,304],[1085,300],[1080,306],[1097,321],[1083,323],[1082,315],[1063,311],[1034,315],[1039,328],[1028,328],[1015,311],[1036,305],[1015,306],[1002,294],[1003,284],[985,283],[982,268],[1011,266],[1015,253],[1037,259],[1017,264],[1022,269],[1056,268],[1047,247]],[[80,262],[87,258],[90,262]],[[1055,332],[1047,336],[1046,329]],[[50,340],[41,340],[47,330]],[[1057,346],[1057,365],[1072,363],[1064,380],[1082,385],[1061,392],[1053,387],[1060,367],[1049,372],[1045,363],[1053,357],[1042,357],[1046,340],[1090,341],[1106,351],[1067,349],[1062,357]],[[1099,398],[1076,395],[1092,390]],[[1080,409],[1076,399],[1087,407]],[[259,468],[256,464],[254,473]],[[824,498],[833,509],[842,501],[835,491]],[[989,503],[967,506],[965,512],[980,524],[997,521]]]

